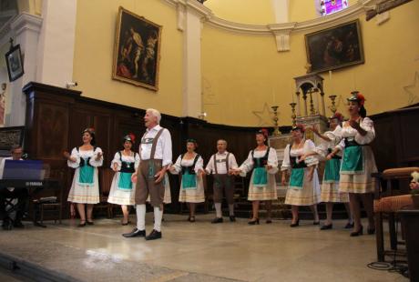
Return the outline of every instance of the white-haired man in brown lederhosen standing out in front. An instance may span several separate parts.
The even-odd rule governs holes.
[[[161,238],[161,218],[163,217],[164,185],[166,170],[171,165],[171,136],[169,130],[159,126],[160,113],[148,109],[144,116],[147,127],[141,138],[138,149],[140,161],[133,179],[137,178],[136,205],[137,227],[124,237],[146,237],[146,240]],[[150,196],[150,204],[154,207],[154,228],[146,236],[146,201]]]

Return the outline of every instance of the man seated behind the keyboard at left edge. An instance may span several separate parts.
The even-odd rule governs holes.
[[[0,179],[3,179],[3,173],[5,170],[5,161],[10,160],[22,160],[23,148],[21,146],[15,145],[10,149],[12,156],[7,156],[2,159],[0,162]],[[25,212],[27,199],[27,190],[21,189],[16,190],[13,187],[7,187],[0,190],[0,215],[3,219],[2,227],[5,230],[10,230],[12,226],[14,227],[23,227],[22,217]],[[16,206],[16,216],[15,220],[9,217],[9,214],[6,213],[7,202],[12,202]]]

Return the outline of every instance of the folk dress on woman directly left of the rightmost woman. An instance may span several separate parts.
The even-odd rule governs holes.
[[[324,136],[327,136],[331,141],[322,140],[319,146],[316,146],[313,151],[318,155],[326,157],[332,153],[335,148],[339,151],[330,160],[326,160],[324,166],[324,173],[321,187],[321,202],[323,203],[348,203],[348,193],[339,191],[340,170],[342,161],[342,150],[340,143],[341,138],[336,136],[336,132],[342,130],[341,126],[337,126],[333,131],[326,131]]]

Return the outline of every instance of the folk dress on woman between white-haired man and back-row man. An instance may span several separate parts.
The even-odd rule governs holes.
[[[175,173],[182,176],[179,202],[203,203],[205,202],[204,183],[202,177],[198,177],[198,173],[203,169],[204,161],[198,154],[192,159],[184,159],[183,156],[180,155],[174,165]]]

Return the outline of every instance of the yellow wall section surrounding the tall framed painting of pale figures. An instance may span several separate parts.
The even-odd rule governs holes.
[[[112,80],[118,7],[162,25],[158,92]],[[83,96],[135,106],[155,107],[180,116],[182,110],[183,35],[177,30],[176,9],[157,0],[79,0],[74,80]]]

